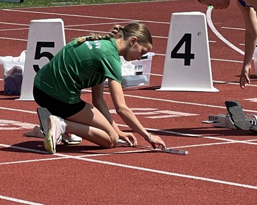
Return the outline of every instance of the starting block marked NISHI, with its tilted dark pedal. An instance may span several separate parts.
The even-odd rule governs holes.
[[[208,120],[201,122],[214,127],[257,131],[257,115],[245,114],[238,100],[225,101],[225,105],[227,114],[209,115]]]

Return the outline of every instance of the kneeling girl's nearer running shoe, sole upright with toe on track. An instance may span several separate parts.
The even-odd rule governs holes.
[[[47,119],[47,133],[44,140],[44,147],[50,154],[56,153],[56,145],[62,141],[60,119],[60,117],[54,115],[50,115]]]

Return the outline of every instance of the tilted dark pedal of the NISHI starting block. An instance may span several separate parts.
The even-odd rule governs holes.
[[[246,114],[238,100],[225,101],[225,105],[228,109],[231,120],[234,122],[234,126],[238,130],[250,130],[250,128],[255,127],[246,117]],[[257,127],[255,129],[257,131]]]

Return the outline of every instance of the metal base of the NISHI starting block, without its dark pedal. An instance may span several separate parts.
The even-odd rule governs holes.
[[[257,115],[246,114],[245,116],[250,121],[252,126],[257,125]],[[234,122],[231,120],[229,113],[209,115],[208,120],[201,122],[206,124],[213,124],[214,127],[237,129],[234,125]]]

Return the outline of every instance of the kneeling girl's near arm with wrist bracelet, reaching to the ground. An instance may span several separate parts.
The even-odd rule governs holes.
[[[125,122],[125,124],[144,137],[145,140],[151,138],[150,143],[152,144],[153,148],[155,148],[155,145],[161,145],[162,147],[165,147],[165,143],[162,141],[162,139],[157,135],[149,134],[140,124],[131,109],[126,106],[121,84],[116,80],[108,78],[108,85],[116,112]]]

